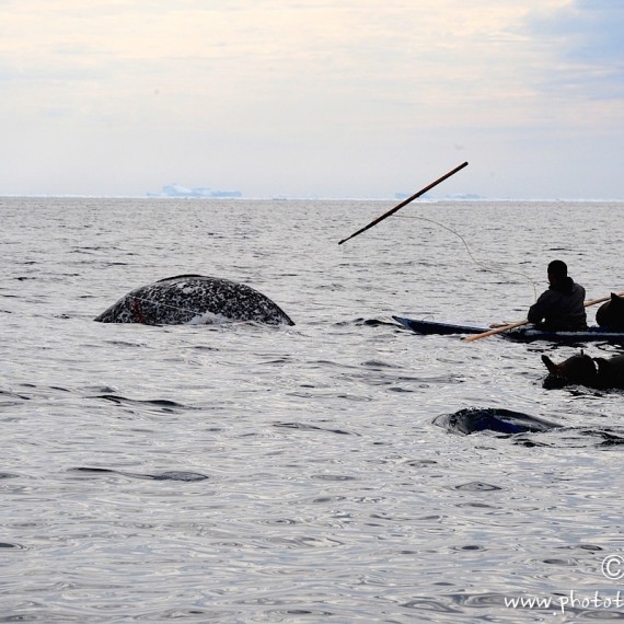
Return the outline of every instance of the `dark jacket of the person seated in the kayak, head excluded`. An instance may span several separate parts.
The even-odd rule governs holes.
[[[566,277],[562,284],[551,286],[542,292],[527,316],[529,323],[535,323],[552,331],[581,331],[587,328],[585,313],[585,288]],[[542,320],[544,321],[542,323]]]

